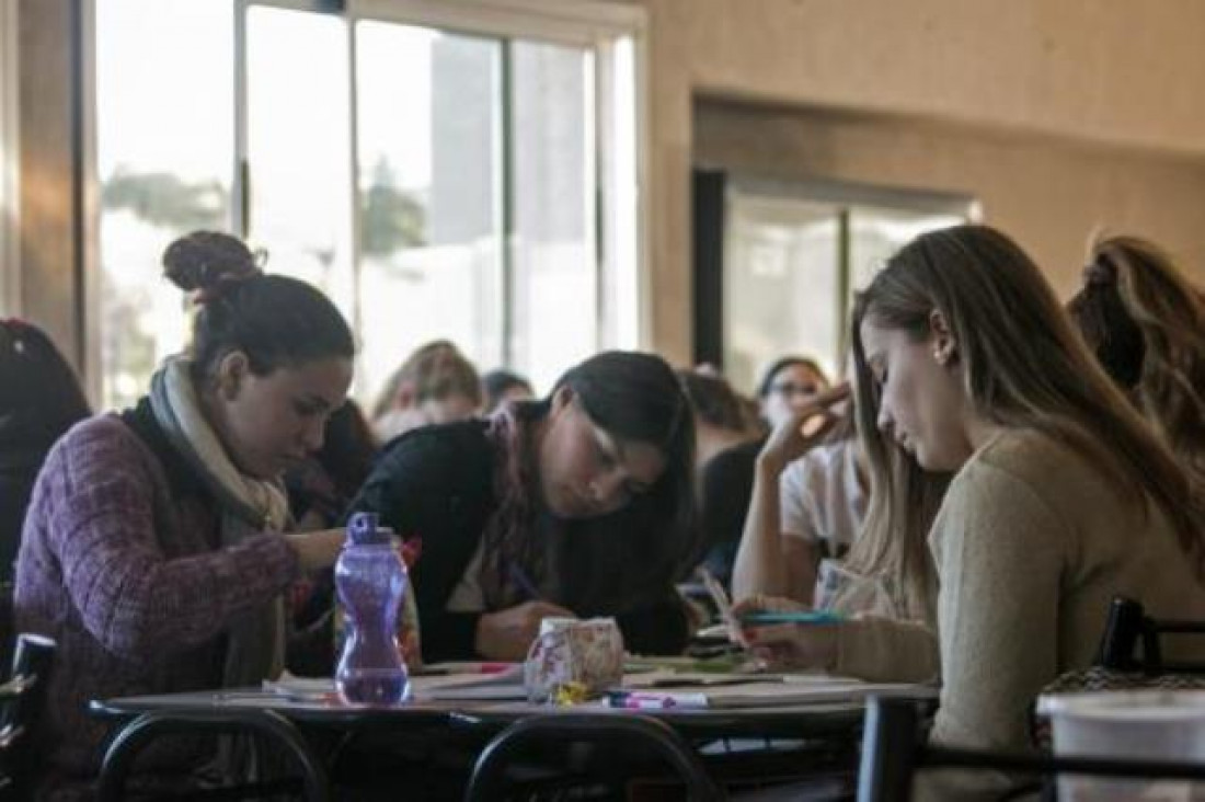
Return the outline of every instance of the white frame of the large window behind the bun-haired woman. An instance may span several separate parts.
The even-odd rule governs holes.
[[[0,0],[10,2],[11,0]],[[100,264],[100,178],[96,163],[96,29],[95,13],[98,0],[83,4],[83,94],[84,94],[84,146],[83,146],[83,207],[86,242],[83,244],[84,287],[83,287],[83,327],[86,332],[87,358],[84,380],[89,394],[100,400],[104,381],[101,364],[101,264]],[[353,180],[348,192],[352,215],[351,259],[355,269],[355,281],[359,281],[360,207],[358,175],[358,98],[357,92],[357,53],[355,24],[360,21],[387,22],[406,25],[440,28],[452,33],[478,36],[525,39],[547,41],[590,48],[595,54],[595,112],[594,117],[594,163],[595,163],[595,282],[598,287],[598,330],[600,346],[639,349],[647,347],[652,336],[652,275],[651,275],[651,238],[649,238],[649,180],[648,163],[651,150],[649,106],[648,106],[648,16],[643,7],[599,0],[558,0],[548,4],[543,0],[233,0],[235,31],[235,164],[231,165],[231,218],[230,230],[246,235],[248,228],[248,142],[247,142],[247,11],[251,6],[266,6],[292,11],[330,13],[343,18],[347,23],[349,58],[349,99],[351,147],[348,157],[352,162]],[[618,42],[631,42],[631,76],[634,109],[634,189],[633,224],[634,246],[627,254],[613,251],[611,226],[605,221],[615,219],[619,211],[616,198],[622,189],[616,186],[616,175],[611,169],[613,144],[604,130],[616,118],[612,103],[613,89],[610,78],[615,75]],[[625,283],[619,276],[618,259],[630,256],[634,276]],[[507,281],[509,285],[509,281]],[[621,285],[623,285],[621,287]],[[617,289],[617,287],[619,287]],[[507,308],[504,310],[504,355],[511,355],[510,333],[512,310],[509,308],[509,286],[504,289]],[[0,297],[2,298],[2,297]],[[623,304],[635,309],[634,321],[623,324],[621,310]],[[359,306],[349,311],[354,330],[360,330]]]

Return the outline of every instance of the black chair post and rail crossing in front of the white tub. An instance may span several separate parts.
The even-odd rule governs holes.
[[[907,802],[917,772],[939,768],[1009,772],[1034,778],[1093,774],[1135,779],[1205,780],[1205,763],[1045,757],[981,749],[953,749],[924,743],[916,702],[871,697],[862,740],[858,802]]]

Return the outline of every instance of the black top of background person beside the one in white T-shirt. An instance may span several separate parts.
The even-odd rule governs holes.
[[[725,587],[731,584],[733,563],[753,498],[753,469],[764,445],[765,438],[734,445],[703,467],[703,564]]]

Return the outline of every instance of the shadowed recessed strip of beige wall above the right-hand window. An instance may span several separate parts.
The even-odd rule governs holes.
[[[1205,279],[1205,158],[888,115],[695,105],[699,164],[974,195],[1064,295],[1103,227],[1150,236]]]

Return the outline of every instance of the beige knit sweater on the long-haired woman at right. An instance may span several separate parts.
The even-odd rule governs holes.
[[[998,435],[962,468],[929,535],[937,567],[942,678],[934,740],[1025,749],[1029,706],[1060,673],[1092,665],[1109,604],[1124,595],[1156,617],[1205,620],[1195,579],[1164,514],[1107,484],[1084,457],[1028,431]],[[934,673],[933,633],[870,621],[839,636],[836,671]],[[1205,657],[1205,639],[1169,644],[1169,657]],[[958,778],[934,774],[957,781]],[[945,794],[968,798],[959,783]]]

